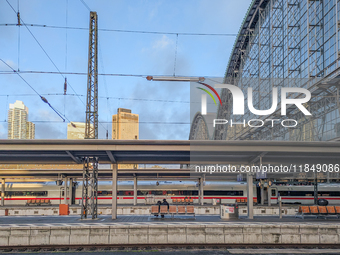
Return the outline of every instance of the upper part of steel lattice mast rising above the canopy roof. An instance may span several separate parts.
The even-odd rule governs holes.
[[[98,139],[98,17],[90,12],[85,139]]]

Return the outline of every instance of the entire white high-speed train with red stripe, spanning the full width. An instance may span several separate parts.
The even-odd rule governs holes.
[[[72,187],[72,204],[81,201],[81,183]],[[55,182],[36,183],[7,183],[5,187],[6,205],[25,205],[27,200],[40,198],[50,199],[52,204],[64,202],[64,186]],[[328,200],[329,204],[339,204],[339,184],[319,184],[319,198]],[[254,200],[260,201],[260,192],[254,185]],[[133,203],[133,181],[118,182],[118,204]],[[67,191],[69,194],[69,190]],[[313,204],[314,186],[273,185],[269,199],[272,204],[277,203],[278,194],[286,204]],[[268,193],[264,192],[264,200],[268,200]],[[138,204],[153,204],[163,198],[172,202],[173,199],[192,198],[198,203],[198,187],[193,181],[138,181]],[[212,204],[213,199],[219,199],[222,204],[235,203],[247,198],[246,183],[242,182],[206,182],[204,186],[204,203]],[[68,198],[69,199],[69,198]],[[112,182],[101,181],[98,186],[98,203],[111,204]]]

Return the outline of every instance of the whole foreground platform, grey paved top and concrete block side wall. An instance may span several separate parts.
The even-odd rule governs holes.
[[[340,244],[339,219],[218,216],[156,218],[118,216],[80,220],[79,216],[0,217],[0,246],[74,245]]]

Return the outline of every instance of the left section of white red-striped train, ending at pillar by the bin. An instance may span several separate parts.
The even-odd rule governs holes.
[[[156,184],[157,183],[157,184]],[[81,183],[72,187],[72,204],[81,200]],[[67,195],[69,190],[67,190]],[[133,181],[118,181],[118,204],[133,203]],[[246,185],[238,182],[206,182],[204,186],[204,203],[211,204],[213,199],[221,203],[234,203],[236,199],[245,199]],[[198,187],[193,181],[139,181],[137,203],[156,203],[158,200],[182,199],[190,197],[198,203]],[[52,204],[64,201],[64,186],[55,182],[7,183],[5,187],[6,205],[25,205],[29,199],[50,199]],[[68,197],[68,199],[70,199]],[[98,185],[98,203],[111,204],[112,182],[102,181]]]

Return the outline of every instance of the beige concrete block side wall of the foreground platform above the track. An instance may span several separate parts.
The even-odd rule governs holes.
[[[339,224],[2,227],[0,246],[145,244],[339,244]]]

